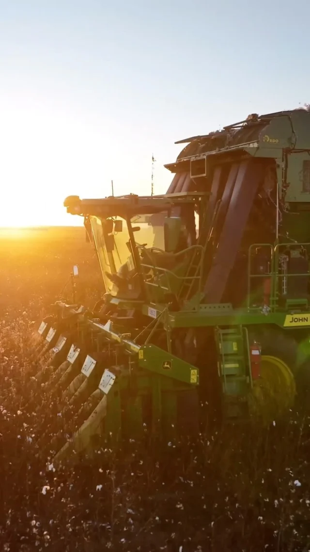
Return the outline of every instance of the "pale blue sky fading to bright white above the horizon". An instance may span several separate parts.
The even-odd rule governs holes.
[[[310,102],[308,0],[0,0],[1,226],[164,193],[176,140]]]

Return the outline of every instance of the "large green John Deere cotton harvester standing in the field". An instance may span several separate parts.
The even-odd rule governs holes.
[[[167,194],[65,201],[105,294],[92,311],[58,303],[39,328],[36,377],[71,424],[52,444],[42,435],[56,460],[270,418],[307,392],[310,113],[253,114],[177,144]]]

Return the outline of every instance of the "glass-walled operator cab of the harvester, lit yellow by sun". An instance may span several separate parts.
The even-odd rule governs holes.
[[[194,201],[165,210],[149,204],[147,213],[90,216],[106,291],[116,298],[163,301],[196,244]]]

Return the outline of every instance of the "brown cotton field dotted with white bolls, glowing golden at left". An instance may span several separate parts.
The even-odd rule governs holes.
[[[30,336],[79,266],[103,294],[82,228],[0,230],[0,550],[310,550],[310,418],[223,428],[161,449],[98,448],[92,464],[36,457],[54,399],[31,383]]]

